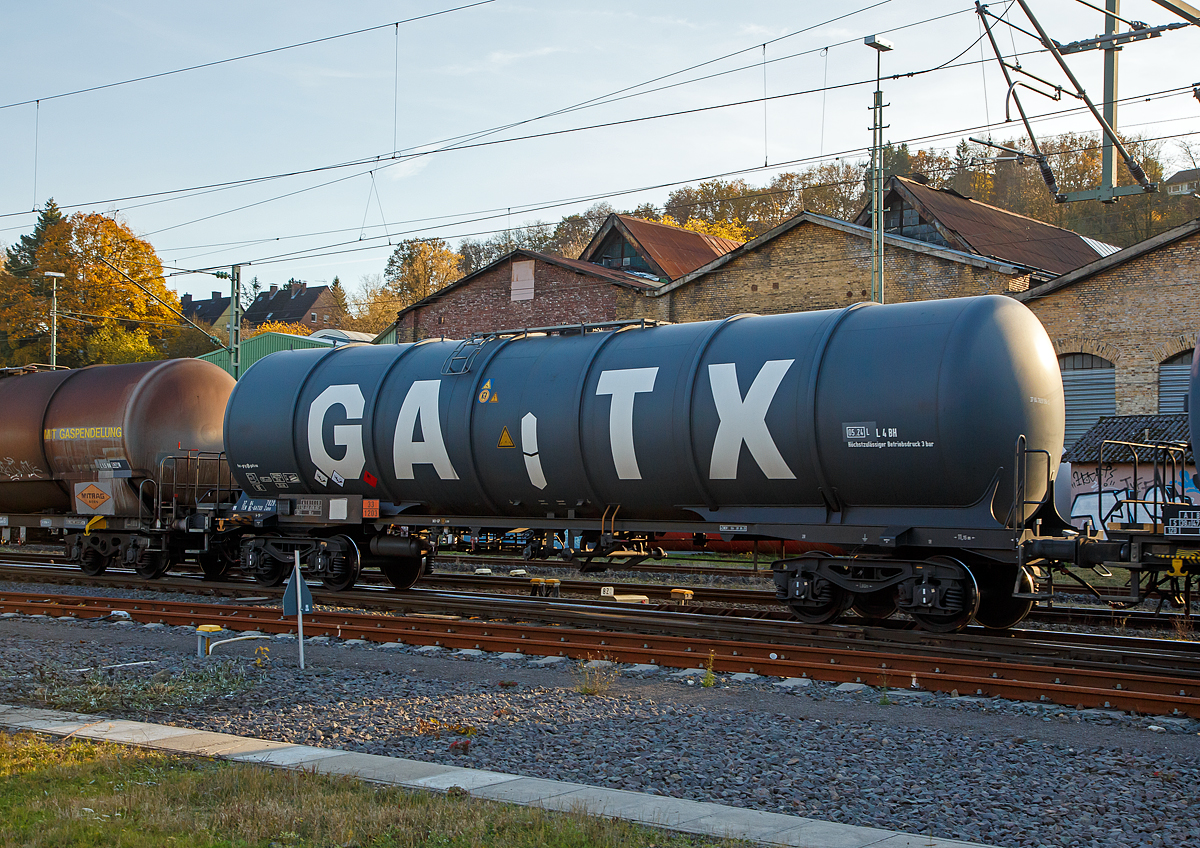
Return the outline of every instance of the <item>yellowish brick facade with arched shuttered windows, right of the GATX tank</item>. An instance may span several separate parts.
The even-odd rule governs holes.
[[[1067,445],[1103,415],[1183,411],[1200,330],[1200,218],[1016,295],[1067,391]]]

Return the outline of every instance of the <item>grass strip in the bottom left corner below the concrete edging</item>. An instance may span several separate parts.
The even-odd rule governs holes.
[[[350,778],[0,734],[0,847],[694,848],[728,841]]]

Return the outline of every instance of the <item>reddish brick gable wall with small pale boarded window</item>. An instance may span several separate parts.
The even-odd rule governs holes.
[[[578,259],[517,249],[402,309],[377,343],[593,324],[638,312],[655,281]]]

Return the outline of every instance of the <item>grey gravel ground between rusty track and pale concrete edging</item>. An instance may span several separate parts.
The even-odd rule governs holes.
[[[186,627],[8,617],[0,637],[5,703],[40,704],[47,668],[214,662]],[[997,846],[1200,844],[1186,718],[630,667],[594,668],[620,676],[581,694],[571,661],[336,639],[306,645],[304,672],[294,637],[222,651],[246,688],[106,715]]]

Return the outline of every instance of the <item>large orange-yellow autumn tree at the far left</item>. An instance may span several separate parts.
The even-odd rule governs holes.
[[[10,341],[10,362],[49,359],[47,271],[65,275],[58,281],[61,365],[91,365],[104,356],[103,351],[115,350],[110,341],[89,349],[94,333],[114,326],[145,333],[149,348],[132,337],[126,339],[130,344],[116,345],[133,351],[127,355],[162,355],[163,336],[178,323],[164,303],[178,309],[179,299],[163,284],[154,248],[124,222],[97,212],[76,212],[44,228],[31,259],[31,265],[17,266],[14,272],[6,257],[0,271],[0,331]],[[108,339],[118,337],[110,330],[106,335]]]

